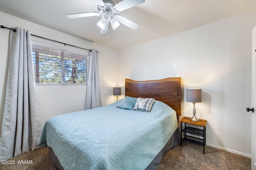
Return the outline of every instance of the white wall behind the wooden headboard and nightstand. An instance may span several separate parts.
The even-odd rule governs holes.
[[[196,116],[207,119],[206,145],[250,157],[255,18],[253,11],[118,51],[118,82],[182,77],[181,117],[192,117],[185,89],[202,88]]]

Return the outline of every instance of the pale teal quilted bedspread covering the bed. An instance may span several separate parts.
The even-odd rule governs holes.
[[[150,112],[120,102],[52,117],[38,145],[52,147],[65,170],[144,170],[178,128],[176,112],[159,101]]]

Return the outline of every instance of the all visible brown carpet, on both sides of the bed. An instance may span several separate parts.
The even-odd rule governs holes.
[[[18,164],[18,161],[26,161]],[[32,164],[31,164],[31,161]],[[0,170],[55,170],[48,148],[11,158],[15,164],[0,164]],[[30,164],[29,164],[30,163]],[[224,150],[183,142],[166,153],[157,170],[251,170],[251,159]]]

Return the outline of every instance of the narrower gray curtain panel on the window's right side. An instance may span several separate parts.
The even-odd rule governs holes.
[[[88,76],[85,109],[93,109],[102,106],[99,87],[99,52],[91,49],[88,58]]]

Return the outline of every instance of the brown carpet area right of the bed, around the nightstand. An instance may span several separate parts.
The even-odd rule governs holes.
[[[251,159],[245,156],[188,142],[166,153],[158,170],[251,170]]]

